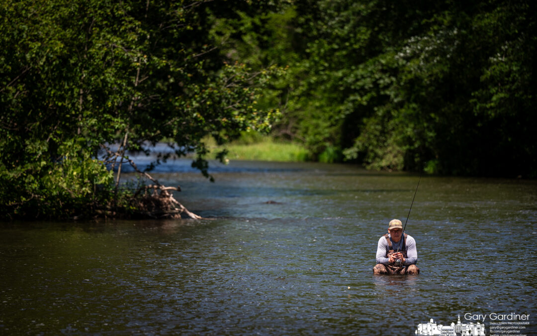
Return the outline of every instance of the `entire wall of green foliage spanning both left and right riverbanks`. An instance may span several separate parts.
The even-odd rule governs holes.
[[[208,175],[203,139],[275,118],[274,137],[320,161],[536,177],[535,13],[523,0],[4,1],[0,211],[129,208],[127,151],[166,141]]]

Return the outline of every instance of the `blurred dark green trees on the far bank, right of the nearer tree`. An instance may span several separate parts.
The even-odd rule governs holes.
[[[296,1],[234,20],[233,57],[289,66],[275,135],[375,169],[537,176],[529,1]],[[228,32],[233,37],[233,34]]]

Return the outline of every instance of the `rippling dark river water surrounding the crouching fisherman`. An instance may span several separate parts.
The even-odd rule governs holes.
[[[537,334],[535,181],[423,176],[421,274],[375,276],[417,175],[233,161],[210,183],[189,165],[154,175],[206,219],[0,225],[0,334],[414,335],[476,315],[494,334],[512,312]]]

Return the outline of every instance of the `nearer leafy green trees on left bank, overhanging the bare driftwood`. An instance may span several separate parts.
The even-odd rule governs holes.
[[[128,207],[129,191],[118,189],[127,150],[163,140],[177,155],[195,148],[193,165],[207,174],[207,134],[225,141],[269,128],[275,112],[258,110],[256,99],[277,69],[252,73],[226,63],[209,34],[237,9],[263,10],[190,1],[2,2],[2,216]],[[105,163],[119,170],[115,179]]]

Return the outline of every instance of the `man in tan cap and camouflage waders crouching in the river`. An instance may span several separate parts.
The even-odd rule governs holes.
[[[401,263],[398,263],[400,260]],[[388,233],[379,239],[376,247],[374,274],[419,274],[416,266],[418,251],[416,241],[404,234],[401,220],[393,219],[388,224]]]

